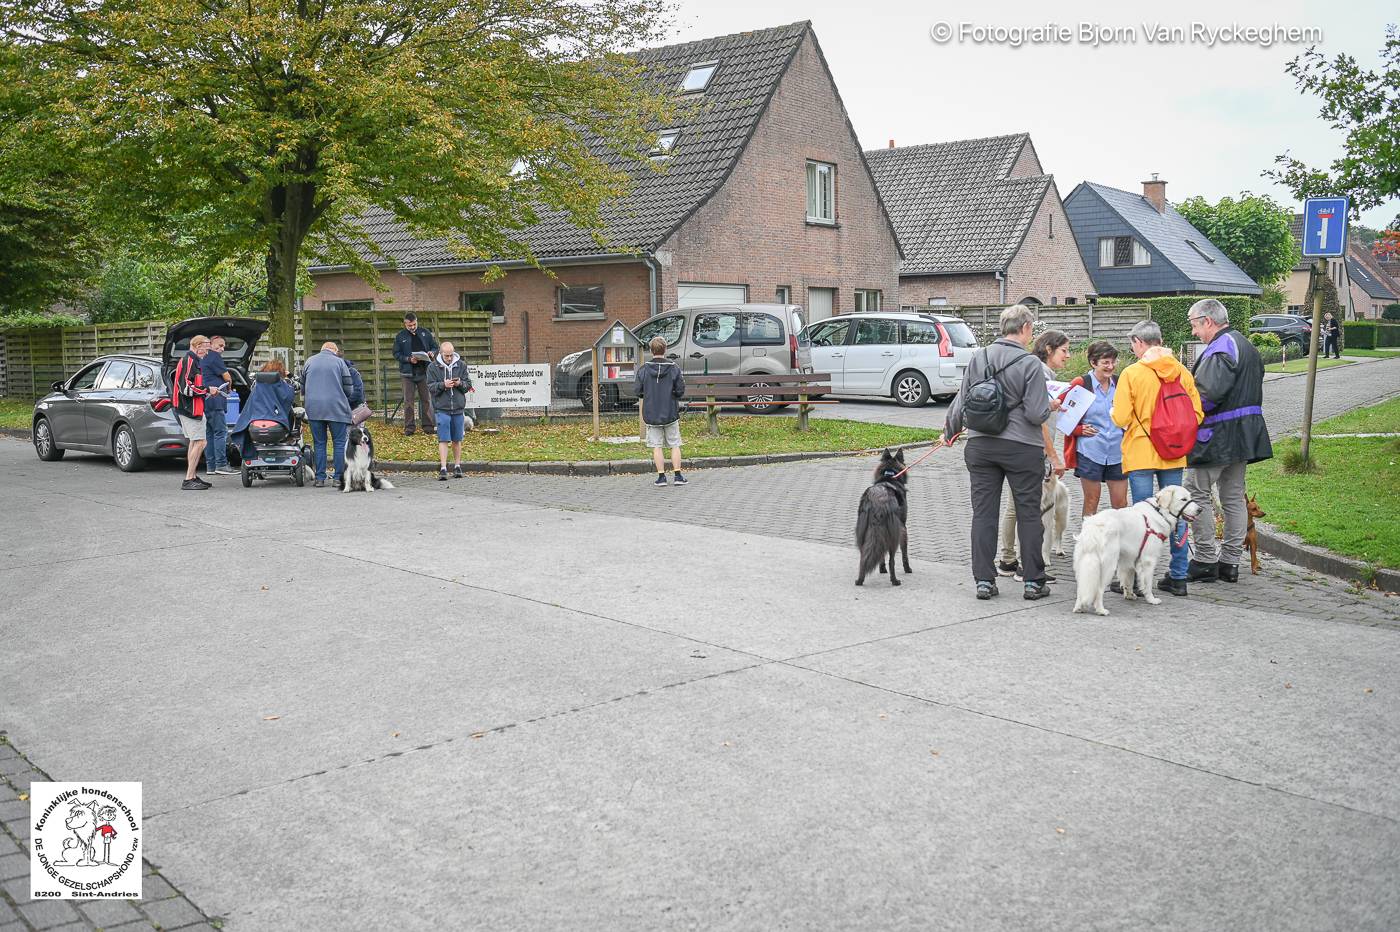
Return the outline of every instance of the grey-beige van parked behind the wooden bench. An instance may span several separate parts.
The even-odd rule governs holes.
[[[736,304],[678,308],[643,320],[633,333],[643,346],[666,340],[666,358],[686,375],[791,375],[802,368],[798,333],[802,308],[791,304]],[[570,353],[554,367],[554,392],[594,406],[591,350]],[[601,407],[636,403],[631,379],[601,386]],[[771,395],[746,396],[753,411],[783,407]]]

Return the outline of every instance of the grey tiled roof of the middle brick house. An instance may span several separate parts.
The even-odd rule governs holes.
[[[1004,270],[1050,175],[1009,178],[1029,134],[865,153],[904,250],[900,274]]]

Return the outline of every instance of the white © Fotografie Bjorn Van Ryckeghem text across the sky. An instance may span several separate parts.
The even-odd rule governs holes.
[[[1296,27],[1280,22],[1203,22],[1184,24],[1138,22],[1110,25],[1106,22],[1036,22],[994,25],[986,22],[949,22],[942,20],[928,29],[928,38],[938,45],[956,41],[959,45],[1005,45],[1019,49],[1025,45],[1203,45],[1205,48],[1250,45],[1268,49],[1275,45],[1316,45],[1323,41],[1322,27]]]

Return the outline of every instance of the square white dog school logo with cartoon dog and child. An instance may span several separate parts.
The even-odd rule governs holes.
[[[140,898],[140,784],[31,784],[29,820],[32,898]]]

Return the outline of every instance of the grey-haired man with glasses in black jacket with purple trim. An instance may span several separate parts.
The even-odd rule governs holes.
[[[1229,325],[1229,312],[1215,298],[1186,313],[1191,336],[1205,344],[1191,375],[1201,393],[1205,420],[1186,458],[1186,490],[1201,507],[1191,522],[1191,558],[1186,578],[1196,582],[1239,582],[1239,561],[1249,528],[1245,467],[1274,455],[1264,424],[1264,361],[1245,334]],[[1215,546],[1215,505],[1225,512],[1225,535]]]

